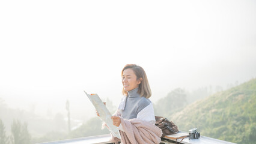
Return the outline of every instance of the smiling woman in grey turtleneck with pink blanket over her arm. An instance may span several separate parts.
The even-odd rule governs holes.
[[[126,65],[122,72],[123,94],[113,124],[121,134],[121,143],[160,143],[162,131],[154,123],[150,86],[145,71],[135,64]],[[112,137],[112,142],[117,142]]]

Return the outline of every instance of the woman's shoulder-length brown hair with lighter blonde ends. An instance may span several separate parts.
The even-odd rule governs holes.
[[[128,68],[133,70],[133,72],[135,73],[135,75],[137,77],[137,80],[139,78],[142,78],[141,83],[139,84],[138,94],[141,95],[141,97],[150,98],[151,97],[151,89],[150,89],[150,86],[148,83],[148,78],[147,78],[147,75],[146,75],[144,69],[136,64],[127,64],[126,66],[124,66],[124,68],[121,72],[121,76],[123,76],[124,70],[126,70]],[[127,95],[127,92],[124,91],[124,88],[123,88],[123,94]]]

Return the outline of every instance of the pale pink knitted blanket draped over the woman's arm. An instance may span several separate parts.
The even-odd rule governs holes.
[[[121,118],[121,117],[120,117]],[[156,125],[151,124],[150,122],[141,121],[139,119],[123,119],[121,118],[121,124],[123,126],[123,131],[120,131],[121,134],[121,143],[157,143],[161,141],[162,130]],[[120,139],[113,137],[111,142],[118,143]]]

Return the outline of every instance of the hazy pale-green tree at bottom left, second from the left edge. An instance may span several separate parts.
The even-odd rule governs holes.
[[[13,144],[29,144],[31,143],[31,135],[28,133],[28,125],[23,125],[19,120],[13,120],[11,124],[11,143]]]

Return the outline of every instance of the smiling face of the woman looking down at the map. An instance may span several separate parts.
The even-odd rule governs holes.
[[[132,89],[138,88],[141,80],[138,79],[131,68],[123,71],[122,83],[124,86],[124,91],[132,91]]]

